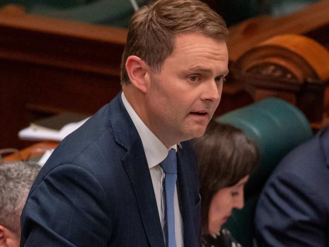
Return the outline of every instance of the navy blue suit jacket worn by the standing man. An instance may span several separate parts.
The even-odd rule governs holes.
[[[185,246],[200,241],[197,166],[177,152]],[[165,246],[141,139],[121,94],[66,137],[37,176],[21,246]]]

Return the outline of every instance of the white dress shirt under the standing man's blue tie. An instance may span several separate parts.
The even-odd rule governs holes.
[[[163,190],[163,179],[165,178],[165,173],[163,172],[162,168],[159,166],[159,163],[167,157],[168,152],[171,148],[177,151],[177,144],[175,144],[170,148],[167,148],[165,144],[163,144],[140,119],[140,117],[137,115],[133,107],[129,104],[124,92],[122,92],[121,98],[142,140],[148,168],[151,174],[157,209],[159,212],[162,233],[163,233],[164,232],[163,227],[165,223],[164,212],[166,207],[166,197],[163,196],[162,190]],[[184,246],[183,220],[179,209],[177,186],[175,187],[174,210],[175,210],[176,245],[177,247],[183,247]]]

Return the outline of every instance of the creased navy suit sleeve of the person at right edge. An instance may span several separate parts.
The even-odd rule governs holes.
[[[256,209],[258,246],[326,246],[325,209],[318,194],[294,174],[271,179]]]

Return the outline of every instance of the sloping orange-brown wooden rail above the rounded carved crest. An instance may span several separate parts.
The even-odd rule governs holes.
[[[285,33],[307,35],[326,46],[329,31],[329,0],[320,1],[281,18],[251,18],[230,27],[229,31],[227,47],[231,61],[236,61],[264,40]]]

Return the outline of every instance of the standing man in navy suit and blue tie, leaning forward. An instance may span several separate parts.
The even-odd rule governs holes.
[[[134,14],[122,92],[40,171],[22,213],[21,246],[199,245],[188,140],[204,133],[219,104],[226,37],[224,20],[198,0],[158,0]],[[173,170],[165,171],[169,159]],[[169,190],[166,178],[175,175]]]

